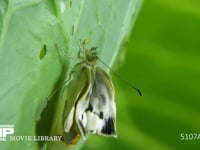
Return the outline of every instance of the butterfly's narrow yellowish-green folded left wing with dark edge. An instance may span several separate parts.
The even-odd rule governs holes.
[[[87,65],[78,63],[72,69],[72,79],[63,89],[63,99],[66,100],[63,111],[64,140],[70,144],[76,144],[80,135],[85,136],[85,130],[77,120],[77,114],[88,107],[87,101],[91,89],[90,70]],[[78,110],[78,112],[77,112]]]

